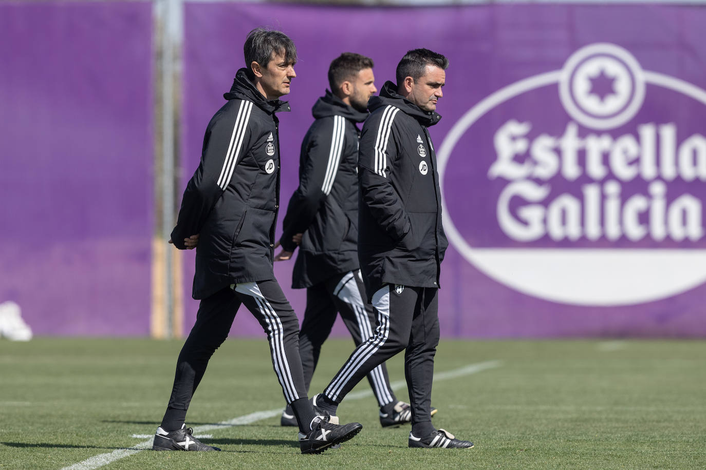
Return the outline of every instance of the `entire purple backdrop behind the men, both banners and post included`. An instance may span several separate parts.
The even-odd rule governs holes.
[[[370,56],[378,88],[409,49],[450,59],[445,338],[703,337],[705,24],[702,2],[2,1],[0,302],[39,335],[189,331],[193,252],[166,240],[264,25],[299,52],[282,207],[333,58]],[[242,309],[231,334],[263,333]]]

